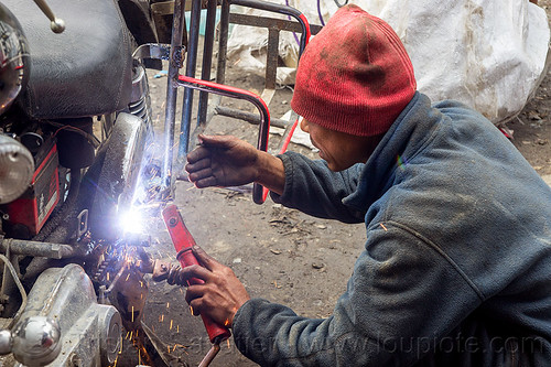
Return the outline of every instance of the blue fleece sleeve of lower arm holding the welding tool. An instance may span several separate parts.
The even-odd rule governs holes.
[[[306,319],[252,299],[236,313],[234,338],[261,366],[410,366],[480,302],[440,248],[379,223],[329,317]]]

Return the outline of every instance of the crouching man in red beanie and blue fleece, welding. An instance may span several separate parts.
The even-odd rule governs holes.
[[[551,366],[551,190],[499,130],[431,106],[396,33],[356,6],[306,47],[291,106],[322,160],[203,136],[190,181],[255,181],[285,206],[364,222],[347,290],[329,317],[301,317],[195,248],[204,268],[181,273],[205,280],[187,289],[194,313],[262,366]]]

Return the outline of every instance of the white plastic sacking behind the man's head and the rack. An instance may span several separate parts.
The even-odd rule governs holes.
[[[349,3],[383,19],[395,29],[410,54],[420,91],[433,101],[460,100],[496,125],[522,110],[547,72],[548,18],[543,9],[528,0],[350,0]],[[337,10],[334,0],[321,0],[321,11],[312,0],[289,0],[289,4],[315,24],[321,24],[320,14],[326,21]],[[256,10],[248,12],[260,14]],[[267,34],[257,28],[235,26],[228,56],[247,72],[263,75]],[[296,63],[296,54],[293,34],[281,32],[280,55],[288,68],[295,66],[289,60]],[[294,75],[289,71],[284,74],[285,77],[278,77],[278,83],[292,84]]]

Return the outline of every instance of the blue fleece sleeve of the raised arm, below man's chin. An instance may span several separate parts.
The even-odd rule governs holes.
[[[271,193],[276,203],[320,218],[364,222],[365,213],[354,211],[342,202],[356,190],[364,164],[332,172],[322,160],[312,161],[294,152],[278,156],[285,169],[285,186],[281,196]]]

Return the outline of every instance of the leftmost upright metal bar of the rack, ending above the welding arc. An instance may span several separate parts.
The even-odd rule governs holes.
[[[174,2],[174,18],[172,23],[171,53],[169,63],[169,78],[166,83],[166,105],[164,118],[164,161],[162,166],[161,195],[172,196],[173,179],[172,179],[172,160],[174,145],[174,126],[176,112],[177,86],[175,80],[179,77],[179,71],[183,63],[182,37],[184,33],[184,11],[185,0],[176,0]]]

